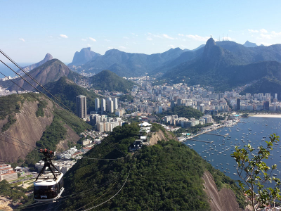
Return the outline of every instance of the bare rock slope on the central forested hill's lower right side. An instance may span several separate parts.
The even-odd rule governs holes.
[[[205,187],[204,191],[209,197],[209,204],[212,211],[242,211],[242,209],[239,208],[236,196],[232,190],[222,188],[221,191],[218,191],[214,178],[210,172],[204,172],[203,180]]]

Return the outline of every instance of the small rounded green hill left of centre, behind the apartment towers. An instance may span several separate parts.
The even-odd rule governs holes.
[[[110,70],[103,70],[97,75],[93,75],[89,78],[89,82],[94,89],[122,91],[124,93],[130,91],[133,87],[133,82],[119,77]]]

